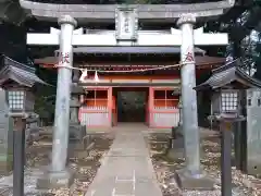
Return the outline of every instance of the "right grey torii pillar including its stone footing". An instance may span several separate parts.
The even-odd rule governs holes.
[[[186,168],[177,171],[178,182],[183,188],[211,189],[213,181],[206,176],[200,167],[200,132],[198,127],[194,24],[196,16],[184,14],[177,21],[182,32],[181,68],[182,74],[182,113]]]

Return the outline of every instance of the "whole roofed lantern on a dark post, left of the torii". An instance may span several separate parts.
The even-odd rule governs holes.
[[[0,71],[0,86],[5,91],[8,112],[5,118],[13,120],[13,195],[24,195],[25,130],[28,121],[34,121],[36,83],[46,84],[35,75],[35,69],[2,56],[3,69]],[[5,105],[2,100],[1,105]],[[4,120],[5,120],[4,118]],[[3,121],[4,121],[3,120]],[[3,126],[4,127],[4,126]],[[1,130],[1,138],[9,130]],[[3,139],[2,143],[5,140]],[[10,142],[10,140],[9,140]],[[9,146],[9,144],[7,145]]]

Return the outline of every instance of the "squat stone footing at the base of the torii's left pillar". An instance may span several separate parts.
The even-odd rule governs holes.
[[[73,182],[74,172],[72,170],[61,172],[47,171],[37,180],[36,187],[38,189],[69,188]]]

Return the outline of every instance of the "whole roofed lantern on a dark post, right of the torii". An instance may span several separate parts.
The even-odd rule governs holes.
[[[250,87],[261,87],[261,83],[240,70],[240,60],[213,71],[212,76],[195,87],[196,90],[212,94],[212,113],[210,120],[220,124],[221,132],[221,182],[222,195],[232,195],[232,132],[235,123],[245,121],[241,106],[243,93]],[[237,132],[237,130],[235,131]]]

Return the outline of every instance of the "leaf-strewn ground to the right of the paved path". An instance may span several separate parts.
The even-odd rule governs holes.
[[[163,196],[220,196],[220,140],[216,136],[203,138],[201,147],[203,158],[201,163],[208,174],[215,180],[214,189],[208,192],[181,191],[174,181],[174,171],[184,168],[184,159],[171,160],[166,156],[169,134],[151,134],[149,146],[151,159],[156,169],[158,181],[161,185]],[[233,195],[234,196],[261,196],[261,180],[251,175],[243,174],[233,167]]]

